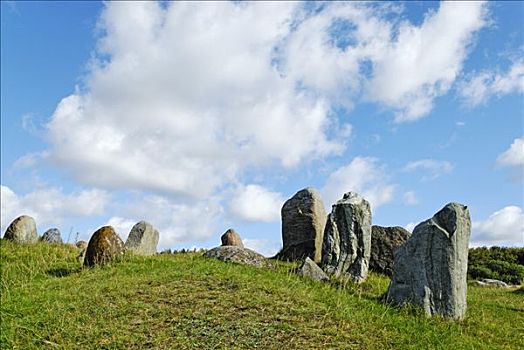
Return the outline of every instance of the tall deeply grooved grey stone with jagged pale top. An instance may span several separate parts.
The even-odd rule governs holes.
[[[371,254],[369,202],[348,192],[333,205],[322,245],[322,268],[335,277],[364,281]]]

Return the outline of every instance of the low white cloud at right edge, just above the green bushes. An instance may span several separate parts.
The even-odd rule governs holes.
[[[472,246],[523,246],[524,213],[517,206],[504,207],[486,220],[472,223]]]

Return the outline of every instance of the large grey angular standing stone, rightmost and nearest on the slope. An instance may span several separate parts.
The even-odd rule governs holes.
[[[413,304],[429,316],[462,319],[470,234],[469,210],[458,203],[447,204],[418,224],[397,250],[387,301]]]

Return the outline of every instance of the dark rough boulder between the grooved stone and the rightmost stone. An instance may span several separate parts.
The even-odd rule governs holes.
[[[393,261],[397,249],[406,243],[411,233],[400,227],[371,226],[371,256],[369,269],[393,276]]]

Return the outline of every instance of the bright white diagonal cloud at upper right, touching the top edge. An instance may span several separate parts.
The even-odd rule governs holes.
[[[474,34],[487,24],[484,2],[442,2],[420,27],[403,22],[374,61],[369,96],[398,110],[396,122],[417,120],[433,108],[462,70]]]

